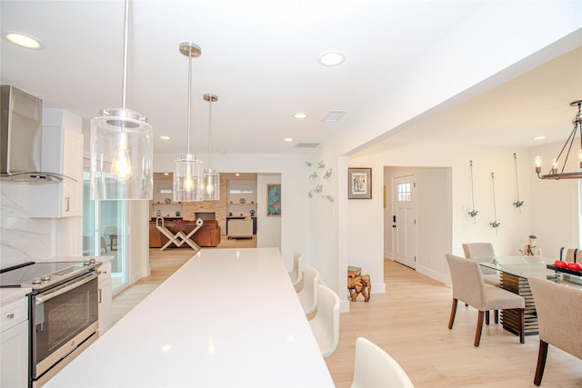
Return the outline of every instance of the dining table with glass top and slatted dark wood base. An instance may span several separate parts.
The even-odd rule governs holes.
[[[537,312],[534,295],[527,278],[539,277],[552,282],[577,288],[582,291],[582,273],[561,271],[554,266],[555,259],[543,256],[496,256],[492,259],[478,260],[479,265],[494,269],[499,273],[499,284],[512,293],[517,293],[526,301],[524,310],[526,335],[537,334]],[[582,293],[580,293],[582,297]],[[508,332],[519,334],[519,313],[516,310],[501,312],[501,322]]]

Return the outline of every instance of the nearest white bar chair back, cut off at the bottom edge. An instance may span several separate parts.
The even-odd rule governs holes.
[[[352,388],[414,388],[396,360],[364,337],[356,338],[356,361]]]

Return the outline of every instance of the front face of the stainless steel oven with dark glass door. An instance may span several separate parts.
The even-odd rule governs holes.
[[[97,331],[97,274],[31,295],[30,302],[30,366],[36,380]]]

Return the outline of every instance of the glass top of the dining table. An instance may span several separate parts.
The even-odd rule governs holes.
[[[487,261],[479,260],[479,264],[524,279],[529,276],[535,276],[582,289],[582,274],[580,276],[561,274],[548,269],[547,264],[553,265],[554,261],[555,259],[550,257],[497,256],[493,259],[487,259]]]

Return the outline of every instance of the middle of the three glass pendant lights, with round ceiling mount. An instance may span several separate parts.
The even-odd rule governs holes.
[[[192,96],[192,58],[202,54],[193,43],[180,44],[180,53],[188,57],[188,153],[174,161],[174,202],[204,201],[204,169],[202,161],[190,154],[190,105]]]

